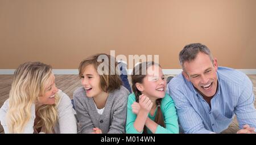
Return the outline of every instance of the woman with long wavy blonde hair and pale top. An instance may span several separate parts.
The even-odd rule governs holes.
[[[5,133],[77,133],[69,97],[55,86],[51,66],[23,63],[0,109]]]

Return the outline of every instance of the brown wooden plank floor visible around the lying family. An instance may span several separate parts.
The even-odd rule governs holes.
[[[253,82],[254,95],[256,96],[256,75],[248,75]],[[81,86],[81,82],[78,75],[55,75],[55,82],[57,88],[65,92],[71,99],[73,99],[73,91],[77,87]],[[0,75],[0,107],[3,105],[6,99],[9,97],[11,83],[13,81],[13,75]],[[130,81],[130,77],[129,77]],[[131,81],[130,81],[131,82]],[[256,100],[254,101],[256,107]],[[230,124],[229,128],[222,133],[236,133],[238,131],[238,123],[236,117]],[[3,133],[2,126],[0,125],[0,133]]]

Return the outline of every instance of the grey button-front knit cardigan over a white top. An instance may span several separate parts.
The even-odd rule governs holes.
[[[73,97],[81,133],[92,133],[94,127],[104,134],[125,133],[128,95],[129,91],[123,86],[109,93],[104,112],[100,115],[93,98],[86,96],[85,89],[76,89]]]

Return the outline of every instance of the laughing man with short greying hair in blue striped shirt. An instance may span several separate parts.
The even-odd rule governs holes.
[[[218,67],[203,44],[186,45],[179,54],[181,74],[168,83],[179,122],[185,133],[221,133],[234,114],[237,133],[255,133],[253,84],[240,71]]]

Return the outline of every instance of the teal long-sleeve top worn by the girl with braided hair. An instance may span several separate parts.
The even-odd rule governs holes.
[[[134,114],[131,108],[131,105],[135,102],[135,95],[134,93],[131,93],[128,97],[128,103],[127,103],[127,117],[126,117],[126,133],[127,134],[141,134],[142,132],[138,132],[134,128],[134,121],[136,120],[137,114]],[[157,109],[157,108],[156,108]],[[177,134],[179,133],[179,125],[177,122],[177,114],[176,109],[174,105],[174,100],[172,100],[171,96],[166,94],[166,96],[163,97],[160,109],[163,113],[164,123],[166,124],[166,128],[163,126],[158,125],[156,127],[156,134]],[[151,120],[155,120],[156,111],[154,116],[151,116],[150,113],[148,113],[148,117]],[[149,129],[147,129],[147,133],[152,133]]]

